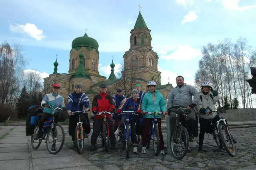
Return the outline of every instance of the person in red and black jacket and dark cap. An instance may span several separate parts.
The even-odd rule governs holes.
[[[91,136],[91,148],[90,150],[96,150],[96,141],[100,134],[102,128],[102,119],[104,115],[97,115],[99,112],[110,111],[115,113],[115,106],[113,105],[112,96],[107,93],[107,87],[104,84],[100,85],[100,94],[94,96],[92,100],[92,112],[94,116],[94,122],[92,127]],[[111,149],[116,149],[116,136],[113,131],[113,122],[111,120],[111,115],[107,116],[107,123],[109,128],[110,144]]]

